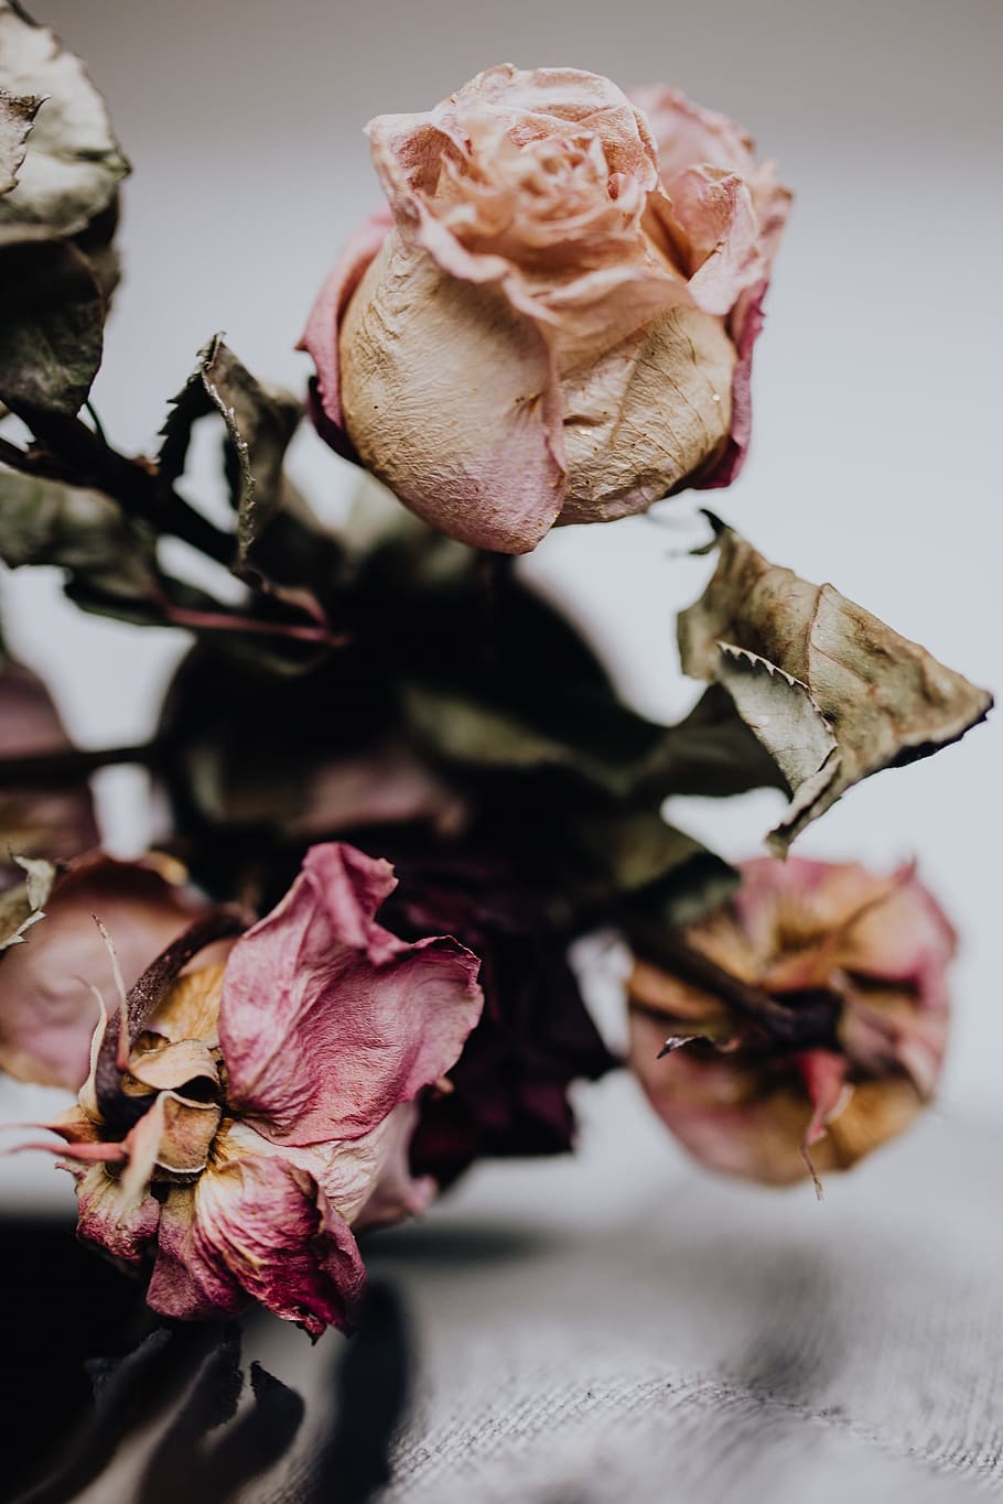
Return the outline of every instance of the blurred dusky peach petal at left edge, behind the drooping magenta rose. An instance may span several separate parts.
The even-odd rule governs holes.
[[[99,1020],[96,987],[114,1006],[111,960],[93,916],[105,925],[125,985],[146,970],[198,905],[152,866],[84,859],[59,878],[26,943],[0,966],[0,1068],[23,1081],[78,1090],[87,1078]]]

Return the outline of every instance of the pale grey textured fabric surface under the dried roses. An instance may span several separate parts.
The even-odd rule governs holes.
[[[383,1504],[829,1504],[1003,1492],[1000,1130],[935,1113],[773,1191],[690,1166],[626,1078],[576,1160],[490,1166],[374,1238],[417,1340]],[[257,1355],[304,1393],[278,1324]],[[308,1474],[253,1495],[280,1504]]]

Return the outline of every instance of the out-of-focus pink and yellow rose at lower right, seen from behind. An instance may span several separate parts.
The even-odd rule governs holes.
[[[630,1060],[690,1154],[785,1185],[848,1169],[929,1101],[955,932],[911,866],[762,859],[741,877],[701,923],[639,935]]]

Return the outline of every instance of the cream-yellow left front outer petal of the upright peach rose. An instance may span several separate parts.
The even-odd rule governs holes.
[[[341,326],[341,406],[365,466],[463,543],[525,552],[561,510],[559,399],[538,326],[397,233]]]

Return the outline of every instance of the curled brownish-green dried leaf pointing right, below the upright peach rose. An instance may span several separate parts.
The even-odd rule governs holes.
[[[798,579],[711,523],[719,561],[680,615],[683,668],[728,690],[782,773],[791,803],[767,838],[782,854],[860,779],[956,741],[992,696],[832,585]]]

